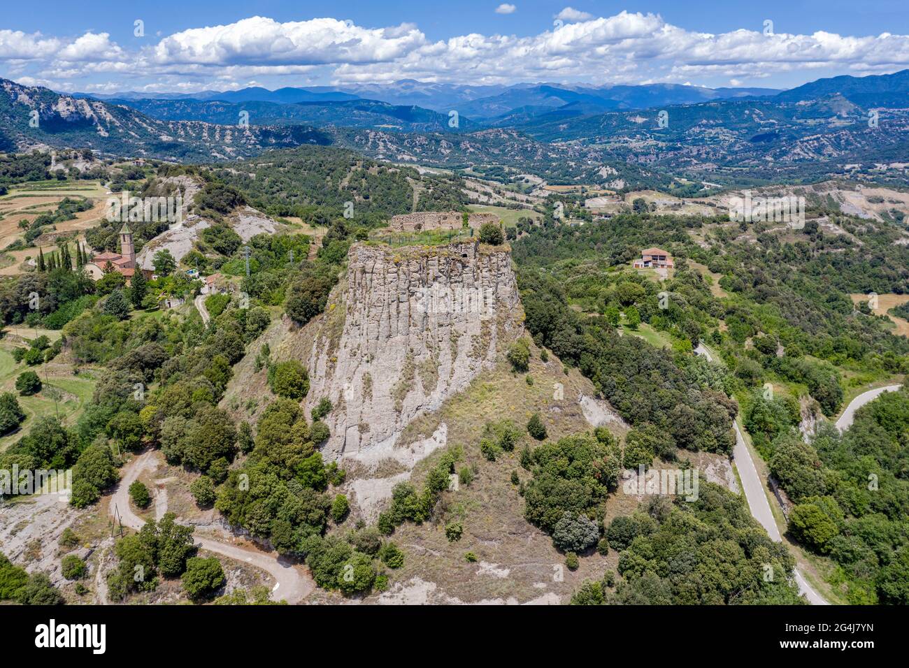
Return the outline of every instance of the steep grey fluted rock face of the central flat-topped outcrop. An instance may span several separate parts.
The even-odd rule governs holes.
[[[511,253],[475,243],[355,244],[347,278],[312,340],[306,412],[323,397],[325,458],[410,469],[445,434],[395,447],[415,417],[464,390],[524,332]],[[343,309],[343,312],[339,310]]]

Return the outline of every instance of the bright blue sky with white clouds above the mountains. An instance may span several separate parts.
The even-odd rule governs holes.
[[[108,94],[401,79],[788,88],[907,67],[905,0],[6,0],[0,15],[0,76]]]

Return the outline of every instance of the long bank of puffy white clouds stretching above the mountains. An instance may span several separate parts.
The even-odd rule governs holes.
[[[500,7],[514,11],[514,5]],[[117,45],[105,33],[64,38],[0,30],[0,76],[83,89],[117,83],[225,89],[281,77],[281,85],[405,78],[475,85],[681,83],[704,77],[747,85],[783,73],[807,79],[818,70],[874,74],[909,67],[909,35],[764,35],[760,26],[714,35],[656,14],[594,18],[568,6],[558,17],[564,25],[536,35],[471,33],[435,42],[413,24],[367,28],[334,18],[280,23],[263,16],[186,29],[140,47]]]

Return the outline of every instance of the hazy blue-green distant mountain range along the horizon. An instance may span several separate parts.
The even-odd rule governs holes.
[[[325,99],[342,91],[234,93],[241,100],[318,96],[295,102],[102,101],[0,79],[0,151],[88,146],[107,155],[208,162],[316,144],[500,180],[530,173],[550,183],[612,188],[665,185],[676,175],[710,183],[796,180],[845,174],[854,165],[872,174],[881,169],[875,165],[904,163],[907,82],[909,70],[822,79],[775,95],[677,85],[392,86],[402,95],[428,90],[451,99],[473,97],[453,110],[454,124],[449,112],[421,105]],[[869,123],[871,109],[879,110],[879,125]],[[35,113],[36,126],[30,123]],[[909,183],[909,174],[898,179]]]

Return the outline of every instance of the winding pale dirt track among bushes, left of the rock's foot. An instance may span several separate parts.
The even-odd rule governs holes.
[[[155,450],[149,450],[135,457],[129,464],[126,464],[120,483],[111,498],[110,513],[113,515],[115,509],[118,510],[124,525],[136,531],[142,528],[145,520],[135,514],[129,505],[129,485],[133,484],[143,471],[154,471],[157,468],[156,454]],[[250,563],[275,578],[275,587],[272,588],[272,598],[275,600],[284,599],[287,603],[299,603],[315,589],[315,583],[307,574],[298,570],[294,564],[285,562],[273,553],[257,550],[254,547],[240,547],[239,545],[223,543],[201,536],[194,536],[194,538],[196,545],[209,552],[222,554],[238,562]]]

